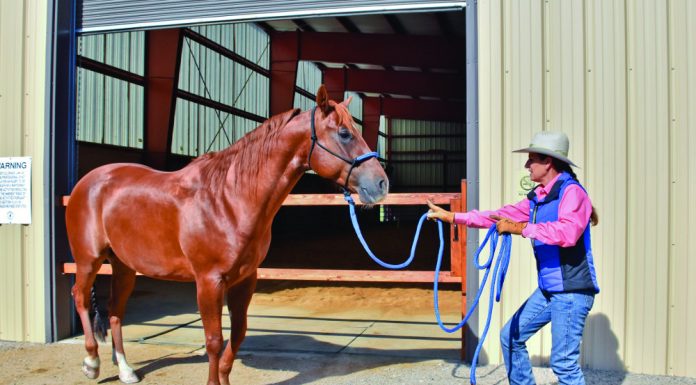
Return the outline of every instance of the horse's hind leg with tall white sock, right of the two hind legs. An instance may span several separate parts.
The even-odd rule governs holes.
[[[121,323],[126,313],[126,302],[135,287],[135,271],[124,265],[118,258],[109,258],[113,275],[111,276],[111,299],[109,301],[109,323],[113,345],[112,360],[118,365],[118,378],[125,384],[133,384],[140,379],[126,361],[123,350]]]

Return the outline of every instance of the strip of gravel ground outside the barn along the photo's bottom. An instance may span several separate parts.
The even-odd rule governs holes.
[[[80,373],[81,344],[29,344],[0,341],[0,384],[120,384],[108,359],[110,348],[100,348],[102,373],[88,380]],[[128,343],[128,359],[143,384],[199,384],[207,375],[205,349],[178,345]],[[587,384],[694,384],[696,378],[653,376],[585,369]],[[557,384],[551,369],[536,367],[539,385]],[[469,366],[456,361],[385,357],[368,354],[314,354],[253,351],[241,353],[231,379],[242,385],[417,385],[469,384]],[[507,384],[505,368],[479,367],[480,385]]]

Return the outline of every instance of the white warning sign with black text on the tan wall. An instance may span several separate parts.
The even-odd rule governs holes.
[[[0,158],[0,224],[31,223],[31,158]]]

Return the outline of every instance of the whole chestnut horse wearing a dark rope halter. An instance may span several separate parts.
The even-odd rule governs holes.
[[[72,295],[85,333],[88,355],[82,370],[87,377],[99,375],[90,290],[108,260],[113,270],[109,322],[120,380],[139,381],[126,361],[121,335],[139,272],[196,282],[208,384],[229,384],[247,329],[257,268],[271,242],[271,222],[302,174],[312,169],[357,192],[366,204],[387,194],[387,176],[375,155],[367,154],[348,103],[328,100],[322,85],[314,109],[273,116],[227,149],[205,154],[179,171],[110,164],[77,183],[65,215],[77,266]],[[223,352],[225,298],[232,329]]]

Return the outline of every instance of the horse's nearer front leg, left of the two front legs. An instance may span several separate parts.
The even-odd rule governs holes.
[[[208,352],[208,385],[219,385],[218,368],[222,350],[222,297],[224,282],[219,276],[196,280],[198,310],[205,331],[205,350]]]

